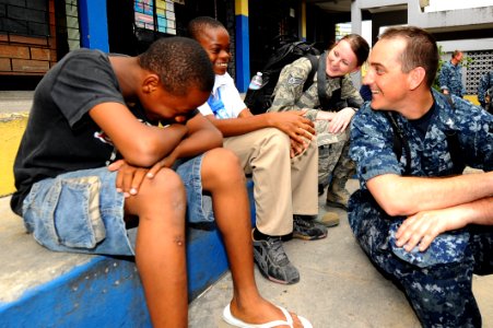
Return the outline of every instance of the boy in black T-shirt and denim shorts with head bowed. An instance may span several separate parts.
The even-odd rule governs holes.
[[[36,87],[11,207],[48,249],[134,255],[153,326],[187,327],[185,218],[213,220],[207,191],[233,276],[225,314],[301,327],[256,288],[243,171],[196,109],[213,83],[188,38],[159,39],[138,57],[69,52]]]

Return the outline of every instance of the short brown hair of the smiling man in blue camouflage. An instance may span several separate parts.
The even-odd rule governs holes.
[[[435,38],[426,31],[415,26],[389,27],[378,39],[402,38],[407,45],[400,56],[401,70],[409,73],[416,67],[424,68],[426,85],[432,86],[438,68],[438,47]]]

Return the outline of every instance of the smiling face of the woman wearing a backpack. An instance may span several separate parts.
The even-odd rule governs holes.
[[[327,55],[326,72],[331,78],[343,77],[357,69],[356,55],[345,39],[340,40]]]

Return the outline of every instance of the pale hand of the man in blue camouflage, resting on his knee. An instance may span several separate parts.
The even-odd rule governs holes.
[[[461,229],[467,224],[467,213],[461,207],[423,211],[402,222],[396,233],[396,244],[404,247],[407,251],[411,251],[414,246],[419,245],[420,251],[424,251],[437,235]]]

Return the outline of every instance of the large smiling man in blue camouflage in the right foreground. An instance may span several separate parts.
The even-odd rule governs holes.
[[[493,116],[431,90],[438,50],[421,28],[386,30],[368,63],[372,102],[351,128],[351,229],[424,327],[480,327],[471,280],[493,272]],[[457,174],[463,165],[478,173]]]

